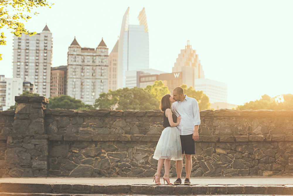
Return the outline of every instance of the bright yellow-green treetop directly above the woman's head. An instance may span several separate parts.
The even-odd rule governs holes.
[[[144,90],[149,92],[159,102],[161,102],[165,94],[170,94],[168,87],[164,86],[162,80],[156,80],[153,85],[147,85]]]

